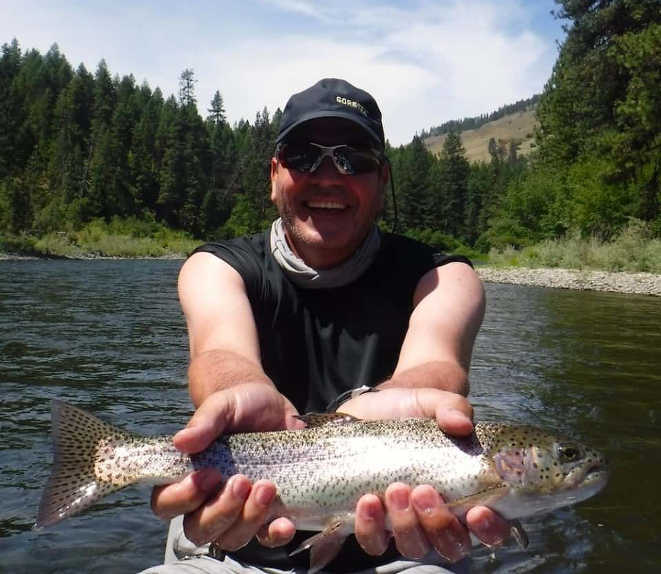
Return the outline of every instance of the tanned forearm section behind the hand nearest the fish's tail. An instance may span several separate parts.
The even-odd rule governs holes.
[[[189,394],[196,407],[211,393],[246,382],[274,386],[261,365],[232,351],[204,351],[191,360],[188,368]]]

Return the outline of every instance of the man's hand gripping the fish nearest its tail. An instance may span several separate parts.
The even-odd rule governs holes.
[[[174,437],[185,453],[206,449],[222,433],[296,429],[304,424],[296,409],[275,388],[246,383],[212,393],[188,426]],[[267,546],[286,544],[295,533],[292,522],[278,518],[264,526],[275,485],[269,480],[251,484],[244,475],[224,477],[213,469],[196,471],[181,482],[156,487],[151,509],[164,519],[184,514],[184,531],[193,544],[216,540],[221,549],[236,550],[258,535]]]

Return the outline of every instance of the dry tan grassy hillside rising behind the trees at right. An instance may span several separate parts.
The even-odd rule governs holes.
[[[503,140],[506,145],[514,139],[519,144],[518,154],[527,156],[534,150],[534,127],[538,125],[534,110],[516,112],[499,120],[492,121],[476,130],[461,132],[461,142],[466,148],[468,161],[490,161],[487,146],[489,140]],[[425,140],[425,145],[434,153],[440,153],[445,141],[445,135],[432,136]]]

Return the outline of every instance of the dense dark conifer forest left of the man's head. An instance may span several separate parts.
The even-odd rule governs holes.
[[[198,113],[194,74],[178,97],[112,76],[105,61],[73,70],[57,45],[0,57],[0,231],[43,234],[93,218],[153,218],[204,238],[264,218],[266,156],[277,117],[230,127],[217,92]],[[279,112],[278,112],[279,113]],[[269,150],[269,152],[266,152]],[[239,207],[235,220],[231,213]],[[228,233],[230,231],[227,231]]]

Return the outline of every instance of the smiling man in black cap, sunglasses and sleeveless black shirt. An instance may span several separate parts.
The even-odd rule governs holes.
[[[377,103],[324,79],[291,97],[276,142],[271,199],[280,219],[265,234],[203,245],[180,272],[197,411],[176,446],[193,453],[221,433],[300,428],[297,413],[323,411],[338,396],[348,399],[339,411],[357,418],[429,417],[470,433],[465,395],[483,288],[468,260],[379,232],[389,170]],[[363,386],[380,392],[342,394]],[[310,534],[295,536],[284,517],[264,524],[276,494],[268,480],[235,475],[223,484],[211,470],[154,489],[156,514],[185,515],[185,536],[174,523],[169,537],[178,557],[210,542],[228,557],[151,572],[303,566],[305,554],[288,552]],[[467,522],[486,544],[509,533],[488,509],[472,509]],[[361,498],[355,540],[326,569],[447,566],[469,550],[468,529],[431,486],[392,484],[384,500]]]

